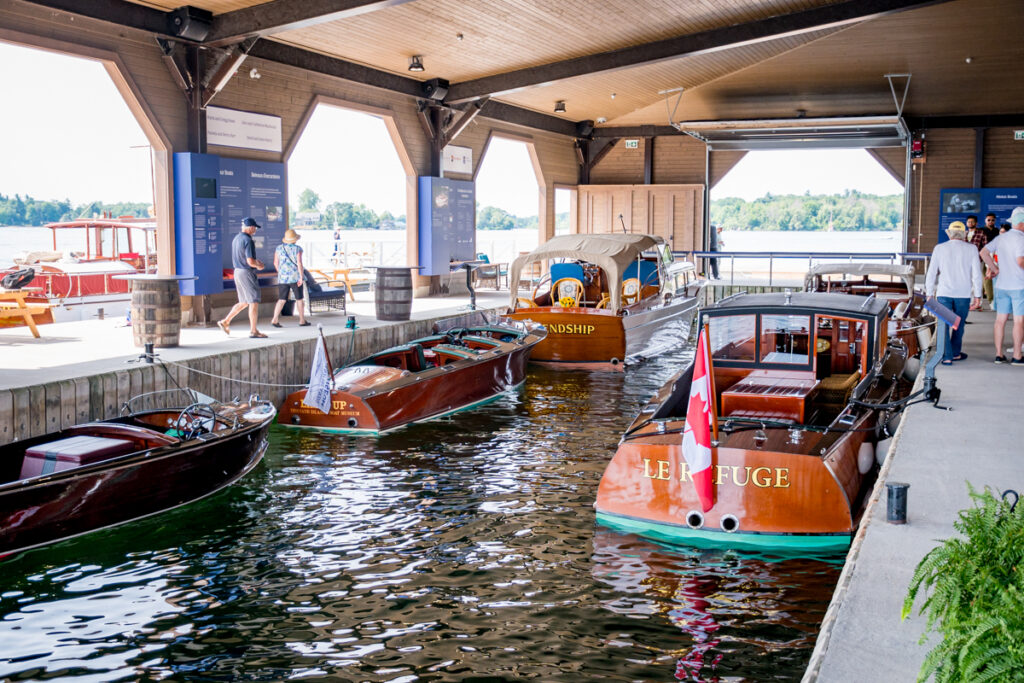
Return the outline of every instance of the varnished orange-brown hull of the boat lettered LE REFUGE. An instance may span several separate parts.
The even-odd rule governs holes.
[[[857,427],[869,427],[871,420],[868,416]],[[669,430],[681,431],[682,426],[672,424]],[[865,472],[870,469],[865,462],[858,466],[861,444],[870,431],[849,431],[824,455],[818,453],[813,433],[803,432],[806,449],[794,453],[792,447],[771,449],[773,442],[788,438],[787,430],[765,431],[768,439],[762,447],[753,442],[752,432],[745,432],[746,447],[716,450],[712,465],[716,502],[699,515],[694,515],[701,508],[685,470],[678,433],[624,441],[598,488],[598,521],[676,543],[845,549],[856,528]],[[873,461],[873,450],[870,458]]]

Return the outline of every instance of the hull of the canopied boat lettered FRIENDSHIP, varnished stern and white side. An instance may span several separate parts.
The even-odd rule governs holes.
[[[689,337],[696,298],[677,298],[628,314],[599,308],[520,308],[508,317],[548,328],[530,362],[561,370],[622,371],[624,364],[662,353]]]

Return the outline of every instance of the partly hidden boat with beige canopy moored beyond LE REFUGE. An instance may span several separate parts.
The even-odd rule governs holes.
[[[935,323],[925,310],[924,292],[913,285],[914,273],[912,265],[895,263],[819,263],[804,276],[804,291],[885,299],[892,309],[889,336],[902,339],[910,356],[920,357],[932,345]]]

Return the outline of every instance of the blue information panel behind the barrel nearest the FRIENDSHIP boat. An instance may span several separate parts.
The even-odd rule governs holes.
[[[420,176],[420,265],[446,275],[452,261],[476,258],[476,194],[471,180]]]

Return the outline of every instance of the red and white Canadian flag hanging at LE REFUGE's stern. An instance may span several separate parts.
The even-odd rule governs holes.
[[[700,507],[705,512],[715,506],[711,442],[712,433],[717,431],[718,427],[710,348],[706,326],[697,338],[693,379],[690,382],[690,402],[686,409],[686,425],[683,427],[683,458],[686,459],[686,465],[693,478],[693,487],[697,492]]]

